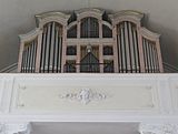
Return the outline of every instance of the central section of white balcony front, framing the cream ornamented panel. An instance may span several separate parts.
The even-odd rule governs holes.
[[[159,111],[157,81],[149,78],[17,76],[12,96],[12,112]]]

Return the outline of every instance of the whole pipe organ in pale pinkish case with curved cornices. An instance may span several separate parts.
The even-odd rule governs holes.
[[[144,13],[81,9],[36,16],[20,35],[21,73],[161,73],[159,34],[142,27]]]

